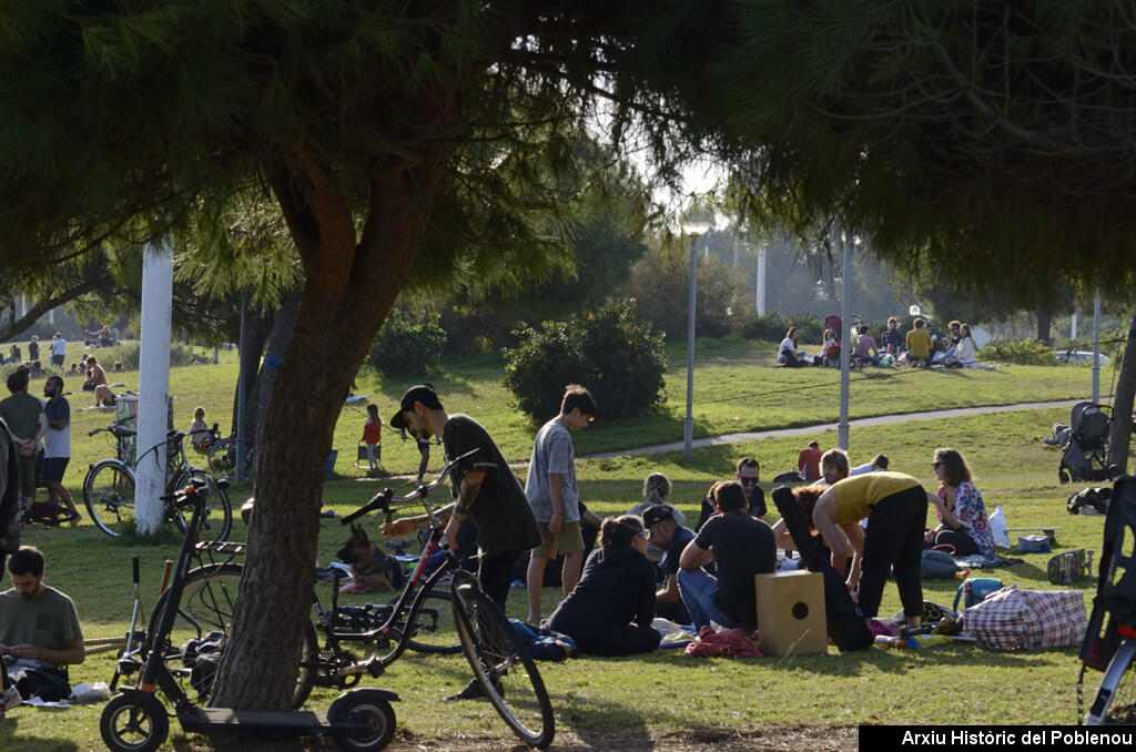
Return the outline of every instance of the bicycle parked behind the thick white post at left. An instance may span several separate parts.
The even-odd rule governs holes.
[[[107,535],[115,536],[119,535],[119,529],[116,528],[123,527],[124,523],[127,525],[134,523],[135,476],[128,461],[131,451],[124,440],[135,436],[137,432],[127,428],[124,423],[119,420],[107,428],[95,428],[89,433],[90,436],[101,432],[112,434],[118,440],[118,452],[115,458],[92,465],[83,479],[83,503],[91,515],[91,521]],[[233,509],[228,493],[212,475],[189,463],[183,446],[185,435],[179,431],[170,431],[164,442],[167,456],[166,495],[190,485],[195,478],[204,481],[208,493],[202,526],[215,540],[224,541],[233,527]],[[161,444],[158,444],[145,453],[158,451],[160,448]],[[185,532],[187,521],[185,513],[172,502],[165,504],[165,519],[173,520],[178,530]]]

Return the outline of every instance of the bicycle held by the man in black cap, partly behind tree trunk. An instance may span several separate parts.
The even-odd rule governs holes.
[[[450,461],[428,485],[403,496],[385,488],[342,519],[346,525],[365,515],[384,512],[389,520],[394,510],[392,504],[420,501],[431,520],[429,535],[402,592],[391,603],[343,607],[339,604],[336,587],[332,608],[326,610],[318,595],[312,595],[315,626],[309,624],[303,637],[304,658],[299,667],[294,707],[307,699],[312,686],[344,690],[358,684],[365,674],[381,676],[408,647],[443,654],[460,650],[485,696],[513,733],[538,749],[552,743],[556,733],[552,704],[536,663],[496,604],[481,591],[473,575],[460,569],[457,554],[442,546],[445,526],[427,501],[429,492],[467,457]],[[185,577],[178,613],[191,632],[199,635],[211,629],[227,634],[243,573],[236,559],[243,555],[244,548],[234,543],[200,543],[195,551],[199,566]],[[442,561],[427,574],[427,562],[436,553],[442,554]],[[446,578],[449,592],[440,590]],[[154,613],[161,612],[162,598],[154,605]],[[452,615],[452,621],[446,613]],[[152,623],[151,630],[154,626]],[[325,638],[323,649],[317,630]],[[360,660],[342,643],[367,644],[378,652]]]

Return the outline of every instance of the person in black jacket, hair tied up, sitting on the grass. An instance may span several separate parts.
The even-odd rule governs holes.
[[[557,607],[548,627],[576,641],[582,653],[629,655],[659,647],[654,618],[654,565],[646,558],[649,533],[633,515],[609,517],[600,528],[601,549]]]

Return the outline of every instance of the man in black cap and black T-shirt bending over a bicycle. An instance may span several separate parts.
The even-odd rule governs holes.
[[[441,436],[448,461],[477,450],[450,470],[454,507],[445,536],[454,545],[461,520],[468,516],[474,521],[479,549],[477,579],[485,594],[504,610],[513,563],[541,542],[520,481],[485,428],[467,415],[446,413],[429,384],[407,390],[390,425],[417,438]],[[401,519],[384,533],[404,535],[412,526],[410,519]]]

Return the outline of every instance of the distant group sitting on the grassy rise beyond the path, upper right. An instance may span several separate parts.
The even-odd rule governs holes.
[[[916,318],[905,334],[900,331],[899,324],[894,316],[888,318],[887,328],[880,333],[878,343],[867,326],[853,327],[852,351],[861,362],[874,366],[979,367],[976,360],[978,348],[969,325],[951,321],[947,324],[949,334],[936,336],[927,328],[926,319]],[[825,357],[822,353],[832,351],[838,339],[838,333],[826,329],[820,353],[810,356],[799,349],[800,329],[791,327],[777,348],[777,362],[788,368],[820,365]]]

